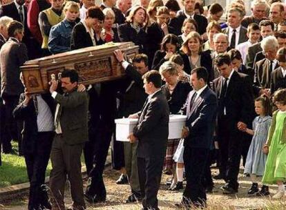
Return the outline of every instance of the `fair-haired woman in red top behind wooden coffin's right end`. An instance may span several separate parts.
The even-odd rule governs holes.
[[[104,13],[104,27],[102,30],[105,42],[119,42],[117,28],[113,26],[115,23],[115,13],[111,8],[105,8],[102,10]]]

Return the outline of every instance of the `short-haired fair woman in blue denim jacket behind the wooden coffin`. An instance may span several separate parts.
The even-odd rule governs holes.
[[[70,35],[79,20],[79,6],[74,1],[68,1],[63,11],[65,19],[50,29],[48,37],[48,50],[53,54],[70,50]]]

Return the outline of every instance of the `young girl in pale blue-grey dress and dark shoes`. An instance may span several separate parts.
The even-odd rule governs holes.
[[[258,116],[252,122],[253,130],[245,128],[245,132],[253,135],[247,159],[245,163],[245,173],[250,174],[252,186],[247,194],[269,195],[269,189],[263,185],[260,192],[258,189],[258,176],[262,176],[265,171],[267,155],[263,153],[263,145],[267,139],[267,133],[271,124],[271,105],[266,95],[260,96],[255,100],[255,111]]]

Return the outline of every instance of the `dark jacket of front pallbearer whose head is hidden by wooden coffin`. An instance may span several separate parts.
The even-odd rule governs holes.
[[[50,107],[53,114],[55,109],[55,102],[50,93],[42,94],[44,101]],[[16,120],[23,120],[23,131],[21,140],[21,150],[24,155],[33,153],[37,146],[38,127],[37,127],[37,113],[35,110],[35,103],[30,99],[27,106],[23,106],[25,95],[22,93],[19,99],[19,105],[13,111]]]

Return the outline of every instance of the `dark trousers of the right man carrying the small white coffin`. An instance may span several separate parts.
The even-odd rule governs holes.
[[[205,205],[207,195],[202,186],[202,177],[208,156],[209,149],[184,147],[184,169],[187,179],[182,198],[184,204]]]

